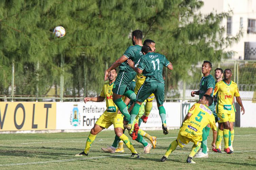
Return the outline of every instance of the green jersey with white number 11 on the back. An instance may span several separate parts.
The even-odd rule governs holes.
[[[146,76],[145,82],[163,82],[163,66],[167,67],[170,62],[162,54],[149,52],[142,56],[138,68],[143,70],[142,74]]]

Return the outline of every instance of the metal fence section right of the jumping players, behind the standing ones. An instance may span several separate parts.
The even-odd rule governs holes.
[[[211,75],[214,76],[216,68],[231,69],[233,76],[232,81],[238,85],[239,93],[242,100],[253,100],[256,102],[256,60],[222,60],[219,63],[212,63]],[[201,73],[202,62],[196,66],[191,66],[191,72],[188,73],[190,78],[179,82],[178,90],[166,92],[165,100],[187,100],[195,101],[198,97],[191,97],[191,91],[199,90],[200,80],[203,76]],[[174,95],[178,97],[174,97]]]

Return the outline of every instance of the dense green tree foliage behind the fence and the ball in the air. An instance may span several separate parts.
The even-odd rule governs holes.
[[[15,83],[16,95],[35,95],[37,85],[39,95],[46,95],[64,74],[65,95],[80,96],[84,69],[87,90],[99,94],[106,66],[131,45],[134,29],[154,40],[157,52],[172,62],[168,87],[176,88],[198,61],[228,56],[223,50],[241,36],[223,37],[220,24],[231,13],[202,16],[197,13],[202,5],[199,0],[0,1],[0,95],[11,86],[13,60],[15,81],[22,86]],[[53,36],[56,26],[66,29],[65,37]],[[65,55],[65,73],[60,54]]]

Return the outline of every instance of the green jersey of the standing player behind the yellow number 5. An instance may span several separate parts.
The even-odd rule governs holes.
[[[215,80],[213,76],[210,74],[206,77],[202,77],[200,81],[200,89],[199,89],[199,99],[203,97],[203,95],[206,93],[207,89],[215,87]],[[213,90],[214,91],[214,90]],[[213,97],[213,92],[211,94]],[[214,112],[214,102],[212,105],[209,106],[212,112]]]

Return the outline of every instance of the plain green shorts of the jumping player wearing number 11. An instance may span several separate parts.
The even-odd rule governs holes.
[[[164,103],[164,83],[163,82],[144,82],[138,91],[136,100],[144,102],[152,93],[154,93],[157,103],[163,105]]]

